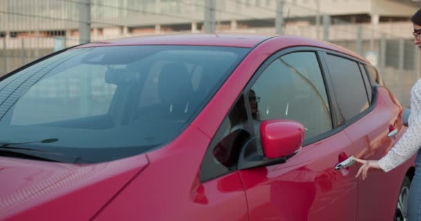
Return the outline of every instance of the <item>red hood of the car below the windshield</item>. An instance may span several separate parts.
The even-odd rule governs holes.
[[[147,164],[146,155],[87,165],[0,157],[0,220],[90,220]]]

